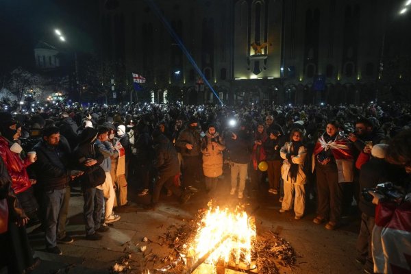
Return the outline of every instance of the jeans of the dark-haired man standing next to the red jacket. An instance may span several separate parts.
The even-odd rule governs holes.
[[[46,231],[46,247],[55,247],[57,245],[57,225],[58,216],[63,206],[64,195],[66,188],[45,191],[45,231]]]

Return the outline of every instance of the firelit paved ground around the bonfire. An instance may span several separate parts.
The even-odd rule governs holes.
[[[227,179],[222,179],[219,186],[220,196],[217,201],[221,206],[233,205],[239,201],[229,195],[226,181]],[[180,205],[175,197],[164,195],[162,203],[155,211],[146,211],[136,203],[145,201],[138,199],[136,195],[129,195],[133,201],[132,206],[117,210],[121,214],[121,220],[103,234],[102,240],[88,241],[84,238],[83,200],[79,188],[73,188],[71,195],[67,229],[75,242],[59,245],[63,255],[55,256],[44,252],[44,234],[30,233],[29,238],[36,256],[43,260],[33,273],[110,273],[116,260],[127,252],[132,253],[132,273],[148,273],[148,270],[150,273],[157,273],[155,269],[160,269],[165,264],[160,260],[145,264],[140,247],[147,246],[145,255],[151,251],[162,258],[169,253],[169,249],[155,243],[158,236],[164,234],[169,225],[178,226],[192,221],[197,211],[205,208],[208,202],[204,192],[197,193],[185,205]],[[345,219],[346,225],[330,232],[323,225],[312,223],[312,203],[308,203],[306,216],[296,221],[291,212],[278,212],[277,195],[264,192],[258,198],[245,198],[243,201],[249,212],[254,211],[258,235],[266,236],[270,231],[279,232],[279,236],[290,242],[297,252],[299,257],[296,266],[292,269],[280,268],[280,273],[362,273],[360,266],[354,261],[358,220],[353,220],[352,217]],[[153,242],[142,242],[143,237]]]

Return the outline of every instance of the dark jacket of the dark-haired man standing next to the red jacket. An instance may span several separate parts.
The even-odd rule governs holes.
[[[33,164],[36,172],[36,188],[48,191],[65,188],[71,181],[71,149],[66,139],[60,139],[57,147],[41,140],[34,146],[37,160]]]

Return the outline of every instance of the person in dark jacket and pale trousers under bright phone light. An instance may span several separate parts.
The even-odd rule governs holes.
[[[251,155],[251,134],[247,132],[244,123],[240,124],[238,132],[231,132],[231,136],[227,136],[225,145],[228,150],[230,167],[231,167],[231,190],[230,195],[236,193],[237,178],[240,177],[238,185],[238,199],[242,199],[245,188],[245,179],[247,179],[248,163]]]

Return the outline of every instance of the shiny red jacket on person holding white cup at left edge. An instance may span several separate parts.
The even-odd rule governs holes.
[[[18,194],[27,190],[32,186],[29,180],[26,168],[32,162],[28,158],[22,160],[17,153],[10,151],[9,142],[4,137],[0,136],[0,156],[7,168],[7,171],[12,177],[12,188],[14,193]]]

